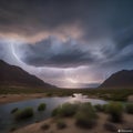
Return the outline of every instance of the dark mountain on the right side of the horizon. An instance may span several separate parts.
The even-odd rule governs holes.
[[[100,88],[133,88],[133,70],[122,70],[112,74]]]

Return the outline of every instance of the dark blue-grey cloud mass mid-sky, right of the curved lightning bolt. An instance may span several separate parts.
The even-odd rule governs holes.
[[[23,62],[35,66],[73,68],[95,61],[94,55],[84,50],[81,43],[72,39],[62,42],[54,37],[35,44],[16,45],[14,51]]]

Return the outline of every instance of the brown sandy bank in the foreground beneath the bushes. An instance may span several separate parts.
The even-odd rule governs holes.
[[[13,133],[111,133],[113,130],[133,129],[133,115],[124,113],[122,123],[111,123],[109,115],[105,113],[99,113],[98,123],[92,129],[81,129],[75,125],[75,120],[63,119],[66,124],[64,129],[57,127],[57,120],[49,119],[39,123],[34,123],[22,129],[16,130]],[[48,129],[43,129],[43,125],[49,125]]]

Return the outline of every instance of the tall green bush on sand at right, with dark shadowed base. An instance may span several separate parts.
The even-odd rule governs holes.
[[[106,105],[106,113],[110,114],[112,122],[122,122],[123,105],[120,102],[110,102]]]

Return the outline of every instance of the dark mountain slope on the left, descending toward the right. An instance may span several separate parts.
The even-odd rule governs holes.
[[[44,86],[53,88],[44,83],[35,75],[31,75],[19,66],[10,65],[0,60],[0,85]]]

